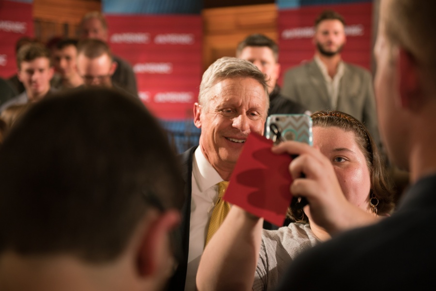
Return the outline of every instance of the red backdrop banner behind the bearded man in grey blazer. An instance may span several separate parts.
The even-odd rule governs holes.
[[[279,48],[281,76],[289,68],[309,61],[315,47],[312,43],[316,17],[325,9],[341,14],[346,22],[347,43],[342,57],[345,62],[370,68],[372,3],[301,6],[279,11]]]

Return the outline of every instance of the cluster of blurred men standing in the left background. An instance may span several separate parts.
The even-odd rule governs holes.
[[[78,39],[53,37],[47,44],[27,36],[17,41],[17,74],[0,79],[0,114],[15,115],[18,105],[83,86],[114,87],[138,96],[132,66],[112,54],[107,44],[104,16],[87,13],[79,31]]]

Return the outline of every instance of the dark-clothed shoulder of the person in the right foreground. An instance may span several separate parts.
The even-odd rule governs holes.
[[[374,226],[355,229],[297,257],[278,291],[416,290],[435,286],[436,176],[421,179],[399,209]],[[429,285],[431,284],[431,285]]]

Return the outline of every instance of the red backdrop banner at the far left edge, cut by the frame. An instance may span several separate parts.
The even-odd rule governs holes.
[[[23,36],[33,36],[32,4],[0,1],[0,77],[16,73],[15,44]]]

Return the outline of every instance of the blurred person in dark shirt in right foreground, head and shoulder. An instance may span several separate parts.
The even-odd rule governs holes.
[[[390,161],[410,172],[412,186],[391,217],[296,259],[280,291],[435,286],[436,39],[428,25],[435,13],[435,1],[380,1],[374,47],[379,128]]]

